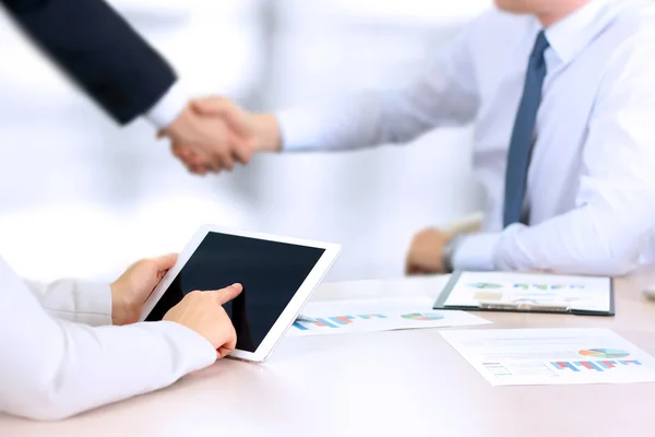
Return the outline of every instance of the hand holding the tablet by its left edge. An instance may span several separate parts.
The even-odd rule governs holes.
[[[177,255],[141,260],[132,264],[111,284],[111,322],[130,324],[139,321],[141,308],[166,272],[175,265]]]

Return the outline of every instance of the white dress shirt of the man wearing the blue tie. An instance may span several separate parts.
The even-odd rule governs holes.
[[[548,73],[525,208],[502,228],[507,155],[528,57],[543,27],[528,15],[474,21],[414,83],[278,114],[285,151],[406,143],[475,123],[474,170],[487,196],[462,270],[622,274],[654,260],[655,4],[592,0],[546,29]],[[436,187],[437,188],[437,187]]]

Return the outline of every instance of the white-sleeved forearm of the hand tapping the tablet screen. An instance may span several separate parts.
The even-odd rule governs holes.
[[[0,411],[29,418],[60,420],[143,394],[216,359],[210,342],[175,322],[100,328],[38,317],[31,322],[38,339],[20,330],[15,339],[0,335],[0,346],[13,355],[0,375]]]

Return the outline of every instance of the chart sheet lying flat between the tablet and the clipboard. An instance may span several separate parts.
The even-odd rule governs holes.
[[[296,321],[288,335],[325,335],[400,329],[490,323],[464,311],[436,311],[427,296],[361,298],[309,303],[300,311],[315,322]]]

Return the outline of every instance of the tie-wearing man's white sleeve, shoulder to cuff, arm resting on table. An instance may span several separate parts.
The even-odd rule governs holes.
[[[463,238],[455,269],[621,275],[639,265],[655,224],[655,46],[642,43],[617,54],[602,84],[576,208],[535,226]]]

